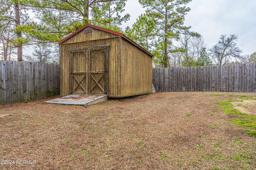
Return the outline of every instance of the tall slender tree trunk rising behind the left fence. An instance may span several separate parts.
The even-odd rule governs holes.
[[[18,3],[14,4],[15,8],[15,27],[18,27],[20,25],[20,7]],[[18,39],[18,44],[17,44],[17,59],[19,62],[22,61],[22,43],[20,43],[20,39],[22,38],[22,33],[21,31],[16,30],[16,36]]]

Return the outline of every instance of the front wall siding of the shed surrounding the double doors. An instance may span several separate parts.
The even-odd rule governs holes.
[[[98,31],[98,30],[97,30]],[[83,31],[82,31],[83,32]],[[106,33],[106,36],[104,36]],[[79,33],[78,33],[79,34]],[[88,34],[88,33],[87,33]],[[87,35],[86,34],[86,35]],[[108,66],[108,85],[109,85],[109,97],[120,97],[121,91],[121,80],[120,80],[120,65],[119,65],[119,37],[117,38],[107,38],[108,32],[100,31],[99,35],[95,34],[95,39],[90,41],[79,42],[79,43],[71,43],[67,44],[67,41],[82,41],[79,35],[76,35],[65,43],[60,45],[60,65],[61,65],[61,75],[60,75],[60,94],[61,95],[69,95],[70,94],[70,82],[69,82],[69,75],[70,75],[70,49],[81,48],[81,47],[89,47],[89,46],[96,46],[96,45],[106,45],[109,44],[109,66]],[[115,35],[114,35],[115,36]],[[107,39],[97,39],[105,37]],[[76,40],[76,38],[78,40]],[[85,37],[84,37],[85,38]]]

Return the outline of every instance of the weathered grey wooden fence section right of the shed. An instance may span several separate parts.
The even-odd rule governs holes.
[[[156,91],[256,92],[256,64],[153,69]]]

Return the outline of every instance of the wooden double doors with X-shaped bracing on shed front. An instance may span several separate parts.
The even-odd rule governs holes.
[[[108,94],[108,47],[70,50],[70,94]]]

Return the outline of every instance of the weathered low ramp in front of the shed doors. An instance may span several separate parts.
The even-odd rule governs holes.
[[[61,104],[61,105],[92,105],[106,101],[106,95],[69,95],[57,99],[44,101],[44,103]]]

